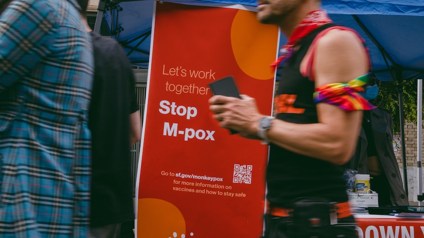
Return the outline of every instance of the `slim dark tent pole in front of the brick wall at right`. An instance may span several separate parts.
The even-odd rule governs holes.
[[[401,143],[402,143],[402,163],[403,163],[403,184],[406,192],[406,196],[408,196],[408,172],[406,169],[406,147],[405,147],[405,130],[404,130],[404,113],[403,113],[403,84],[400,82],[402,80],[402,71],[396,70],[396,79],[397,83],[397,93],[398,93],[398,102],[399,102],[399,123],[400,123],[400,135],[401,135]]]

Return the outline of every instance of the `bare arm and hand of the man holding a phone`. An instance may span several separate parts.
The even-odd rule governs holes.
[[[317,42],[314,59],[315,86],[348,82],[367,73],[362,42],[350,31],[331,30]],[[223,105],[217,105],[222,104]],[[259,119],[255,100],[214,96],[210,100],[220,126],[255,136]],[[273,120],[268,139],[295,153],[343,164],[352,156],[362,121],[362,111],[346,112],[337,106],[317,105],[318,123],[295,124]],[[221,113],[219,113],[221,112]]]

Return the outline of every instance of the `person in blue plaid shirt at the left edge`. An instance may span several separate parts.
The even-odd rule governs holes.
[[[89,234],[93,55],[78,9],[12,0],[1,12],[1,238]]]

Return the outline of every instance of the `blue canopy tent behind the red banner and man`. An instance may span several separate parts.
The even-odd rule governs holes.
[[[133,65],[146,69],[149,65],[153,1],[100,0],[94,26],[94,31],[99,32],[104,18],[111,35],[124,47]],[[205,6],[240,4],[251,10],[256,6],[256,0],[165,1]],[[357,30],[365,39],[376,77],[392,81],[397,87],[401,146],[405,148],[402,88],[405,83],[424,76],[424,0],[322,0],[322,3],[322,8],[335,23]],[[285,41],[282,37],[281,44]],[[421,102],[417,103],[421,110]],[[419,123],[421,129],[421,121]],[[402,153],[404,186],[408,193],[404,149]],[[420,169],[421,153],[418,157]],[[418,179],[421,187],[421,174]],[[423,201],[421,189],[418,195],[418,200]]]

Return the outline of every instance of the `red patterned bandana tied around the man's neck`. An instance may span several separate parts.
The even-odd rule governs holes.
[[[315,10],[311,11],[303,21],[296,26],[293,33],[291,34],[287,44],[281,47],[280,56],[276,61],[271,64],[273,71],[277,66],[284,60],[290,58],[296,45],[308,35],[311,31],[327,23],[332,23],[333,21],[329,18],[325,10]]]

